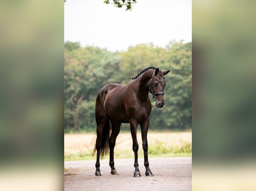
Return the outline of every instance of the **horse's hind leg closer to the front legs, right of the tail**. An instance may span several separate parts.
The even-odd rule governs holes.
[[[118,174],[118,172],[116,171],[115,166],[114,166],[115,165],[115,163],[114,163],[114,148],[116,145],[116,137],[120,132],[121,123],[111,120],[111,126],[112,126],[112,132],[111,132],[111,136],[109,138],[109,153],[110,153],[109,166],[111,167],[110,173]]]

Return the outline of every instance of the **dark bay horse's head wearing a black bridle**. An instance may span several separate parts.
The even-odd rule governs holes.
[[[168,74],[169,72],[170,70],[162,72],[159,70],[159,68],[157,68],[150,79],[149,92],[156,101],[155,105],[160,108],[164,106],[163,91],[166,85],[164,75]]]

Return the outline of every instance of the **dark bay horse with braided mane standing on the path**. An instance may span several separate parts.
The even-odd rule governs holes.
[[[111,174],[118,174],[114,167],[114,147],[120,131],[121,123],[130,123],[132,135],[132,149],[134,151],[134,177],[139,177],[137,127],[140,124],[142,147],[144,151],[144,166],[146,176],[154,176],[149,169],[147,132],[149,115],[152,109],[148,92],[156,101],[157,107],[163,107],[163,91],[166,85],[164,75],[168,71],[160,71],[159,68],[149,67],[141,71],[131,82],[122,86],[108,84],[104,86],[96,98],[95,117],[97,123],[97,139],[94,154],[97,150],[96,176],[101,176],[100,156],[103,158],[110,151],[109,165]],[[111,133],[111,134],[110,134]]]

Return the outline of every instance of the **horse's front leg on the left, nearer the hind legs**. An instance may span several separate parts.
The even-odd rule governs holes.
[[[131,134],[132,134],[132,150],[134,152],[134,177],[140,177],[140,171],[139,171],[139,163],[138,163],[138,150],[139,150],[139,144],[137,141],[137,127],[138,123],[135,120],[130,121],[130,129],[131,129]]]

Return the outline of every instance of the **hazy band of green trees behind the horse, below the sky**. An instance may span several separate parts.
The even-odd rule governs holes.
[[[155,107],[152,99],[150,129],[191,128],[191,46],[191,43],[171,41],[165,48],[155,47],[152,43],[139,44],[129,47],[127,51],[112,53],[98,47],[83,48],[77,42],[66,42],[65,131],[96,129],[95,99],[100,89],[109,83],[127,85],[134,76],[149,66],[171,70],[166,76],[165,106]]]

